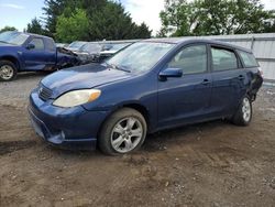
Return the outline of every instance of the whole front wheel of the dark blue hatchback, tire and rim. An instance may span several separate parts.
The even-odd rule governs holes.
[[[131,108],[122,108],[103,123],[99,148],[108,155],[127,154],[140,149],[147,132],[144,117]]]

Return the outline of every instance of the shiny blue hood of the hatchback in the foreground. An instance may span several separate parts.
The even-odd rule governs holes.
[[[69,90],[95,88],[131,76],[131,73],[109,68],[107,65],[89,64],[56,72],[41,83],[53,91],[52,98],[56,98]]]

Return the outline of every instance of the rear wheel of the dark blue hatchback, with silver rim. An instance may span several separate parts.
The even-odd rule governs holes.
[[[232,122],[237,126],[249,126],[252,119],[252,112],[251,99],[245,96],[233,116]]]

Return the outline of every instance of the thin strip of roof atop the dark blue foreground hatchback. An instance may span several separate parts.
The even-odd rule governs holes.
[[[226,47],[231,47],[231,48],[237,48],[240,51],[245,51],[249,53],[252,53],[251,50],[241,47],[241,46],[237,46],[233,44],[229,44],[222,41],[219,41],[219,39],[202,39],[200,36],[188,36],[188,37],[167,37],[167,39],[146,39],[143,40],[141,42],[156,42],[156,43],[169,43],[169,44],[183,44],[183,43],[209,43],[209,44],[217,44],[217,45],[221,45],[221,46],[226,46]]]

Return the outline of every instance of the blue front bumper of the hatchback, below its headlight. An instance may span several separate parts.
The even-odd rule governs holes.
[[[88,111],[81,106],[59,108],[30,96],[29,113],[35,132],[46,142],[73,149],[96,149],[97,135],[108,111]]]

